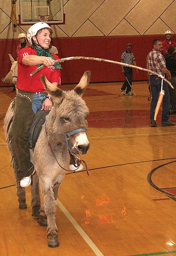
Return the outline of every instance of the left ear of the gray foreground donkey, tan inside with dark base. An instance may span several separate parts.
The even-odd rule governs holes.
[[[51,82],[48,81],[48,79],[46,78],[46,76],[41,75],[40,76],[40,80],[42,81],[45,90],[50,93],[53,97],[56,98],[60,98],[61,96],[63,96],[63,91],[58,88],[57,86],[51,84]]]

